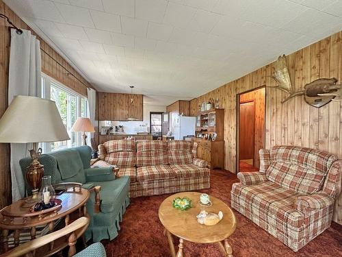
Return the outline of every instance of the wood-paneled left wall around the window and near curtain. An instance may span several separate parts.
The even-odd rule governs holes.
[[[17,27],[22,29],[30,29],[21,19],[8,8],[3,1],[0,0],[0,13],[5,14],[10,18],[10,21]],[[0,19],[0,117],[8,108],[8,62],[10,60],[10,29],[9,24]],[[36,33],[30,29],[31,32]],[[92,87],[86,79],[73,69],[70,64],[66,62],[57,52],[55,52],[49,45],[47,45],[42,38],[37,36],[40,40],[40,48],[42,49],[42,71],[47,75],[53,77],[57,81],[69,86],[81,95],[87,96],[87,87]],[[49,53],[44,53],[46,51]],[[49,56],[52,56],[49,57]],[[64,68],[57,62],[60,62]],[[79,80],[75,79],[70,72]],[[10,145],[0,144],[0,208],[8,205],[11,202],[11,175],[10,175]]]

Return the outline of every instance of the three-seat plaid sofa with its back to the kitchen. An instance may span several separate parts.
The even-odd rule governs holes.
[[[197,143],[185,140],[111,140],[99,158],[130,177],[130,196],[162,195],[210,188],[210,170],[196,158]]]

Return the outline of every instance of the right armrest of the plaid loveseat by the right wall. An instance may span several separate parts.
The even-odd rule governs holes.
[[[334,198],[325,192],[320,191],[313,195],[303,195],[294,202],[294,208],[303,213],[327,208],[334,204]]]

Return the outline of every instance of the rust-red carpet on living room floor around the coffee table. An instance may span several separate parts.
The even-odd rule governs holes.
[[[211,171],[211,188],[203,192],[222,199],[231,205],[231,186],[236,175],[228,171]],[[168,240],[163,236],[158,208],[168,195],[131,199],[119,236],[113,241],[103,241],[107,256],[170,256]],[[237,228],[229,238],[234,257],[327,257],[342,256],[342,225],[332,226],[317,236],[297,253],[235,211]],[[174,243],[178,243],[174,238]],[[185,241],[185,256],[223,256],[218,245],[199,245]],[[176,247],[176,250],[178,247]]]

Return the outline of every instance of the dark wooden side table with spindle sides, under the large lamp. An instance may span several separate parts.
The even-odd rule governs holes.
[[[20,243],[21,230],[30,230],[31,240],[36,238],[36,227],[41,225],[49,225],[49,231],[54,229],[54,221],[64,218],[65,225],[73,222],[74,219],[79,217],[88,217],[86,203],[90,197],[90,192],[84,188],[75,186],[67,187],[66,191],[60,195],[56,195],[57,199],[62,200],[62,208],[56,212],[49,212],[42,217],[30,217],[30,207],[23,207],[26,205],[25,198],[14,202],[10,206],[6,206],[0,211],[0,229],[2,230],[1,246],[3,252],[8,252],[8,234],[14,231],[14,247]],[[12,216],[11,216],[12,215]],[[65,238],[64,238],[65,239]],[[50,249],[42,255],[36,256],[50,256],[59,252],[61,249],[68,245],[68,241],[51,242]],[[49,252],[50,251],[50,252]],[[38,254],[38,253],[36,253]]]

